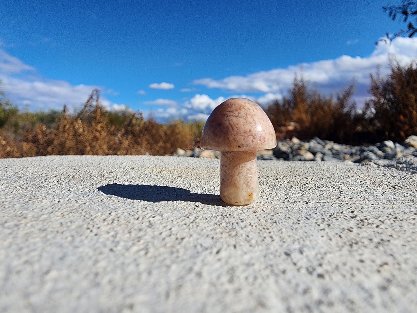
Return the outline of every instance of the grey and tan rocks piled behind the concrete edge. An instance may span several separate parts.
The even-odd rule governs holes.
[[[195,148],[184,151],[177,149],[173,156],[220,158],[219,151]],[[349,146],[317,137],[301,141],[295,137],[279,141],[272,150],[259,150],[258,159],[286,161],[350,161],[355,163],[395,161],[417,157],[417,136],[409,136],[402,144],[386,140],[374,145]]]

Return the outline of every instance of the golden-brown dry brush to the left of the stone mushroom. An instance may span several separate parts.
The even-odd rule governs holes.
[[[39,155],[171,154],[187,149],[201,134],[203,123],[159,124],[141,114],[115,114],[103,109],[94,90],[84,108],[70,116],[64,109],[53,129],[40,122],[17,136],[0,133],[0,157]]]

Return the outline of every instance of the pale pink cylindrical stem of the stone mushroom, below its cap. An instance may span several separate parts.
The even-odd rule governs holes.
[[[252,203],[259,194],[257,151],[221,151],[220,197],[229,204]]]

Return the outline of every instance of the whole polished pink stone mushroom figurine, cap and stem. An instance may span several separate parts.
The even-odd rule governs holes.
[[[259,194],[256,152],[276,146],[264,110],[245,98],[231,98],[214,109],[201,134],[201,149],[220,151],[220,197],[233,205],[250,204]]]

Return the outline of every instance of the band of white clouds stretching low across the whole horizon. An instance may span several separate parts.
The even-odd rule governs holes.
[[[150,114],[156,119],[179,118],[205,120],[213,109],[227,98],[234,96],[246,97],[262,104],[281,99],[294,82],[294,77],[303,76],[320,92],[330,93],[348,86],[352,79],[355,81],[356,93],[353,100],[362,105],[369,98],[369,74],[376,73],[379,67],[382,76],[389,73],[389,57],[392,56],[402,65],[407,65],[417,56],[417,38],[396,38],[392,43],[380,43],[367,57],[352,57],[343,55],[331,60],[320,60],[310,63],[300,63],[286,68],[274,68],[269,71],[259,71],[246,76],[228,76],[221,79],[196,78],[190,81],[196,88],[181,88],[180,92],[194,92],[198,86],[206,92],[195,93],[191,98],[156,98],[142,101],[142,105],[155,109],[139,107],[145,116]],[[18,106],[27,106],[31,111],[62,109],[64,104],[79,108],[88,98],[93,85],[73,85],[67,81],[43,77],[36,68],[25,64],[18,58],[0,49],[0,79],[1,89],[11,102]],[[161,78],[161,81],[163,78]],[[175,83],[175,82],[174,82]],[[161,92],[174,90],[174,83],[152,83],[148,88],[159,89]],[[101,87],[101,101],[107,109],[126,109],[125,104],[109,101],[106,94],[115,95],[111,89]],[[211,98],[210,91],[216,89],[216,94],[223,96]],[[200,91],[200,90],[199,90]],[[132,91],[132,94],[145,95],[144,90]]]

